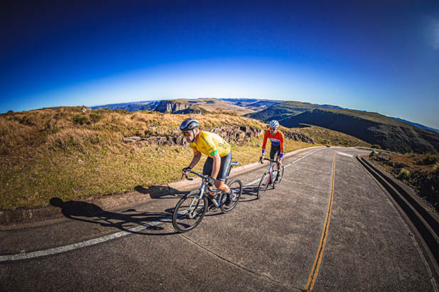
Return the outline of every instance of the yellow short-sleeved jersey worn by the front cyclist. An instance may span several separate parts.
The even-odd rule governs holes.
[[[201,152],[209,157],[219,155],[224,157],[230,152],[230,145],[222,137],[215,133],[200,131],[197,142],[190,142],[189,146],[194,151],[194,154]]]

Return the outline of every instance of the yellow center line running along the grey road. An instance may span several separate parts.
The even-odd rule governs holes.
[[[326,239],[327,239],[327,230],[329,229],[329,223],[331,219],[331,210],[332,210],[332,197],[334,196],[334,180],[335,180],[335,156],[332,162],[332,182],[331,182],[331,193],[330,200],[327,204],[325,225],[322,232],[322,237],[320,238],[320,244],[318,245],[317,254],[315,254],[315,260],[313,264],[313,269],[311,269],[310,276],[308,276],[308,281],[306,282],[305,291],[313,291],[315,279],[317,279],[318,270],[320,268],[320,264],[323,259],[323,250],[325,249]]]

